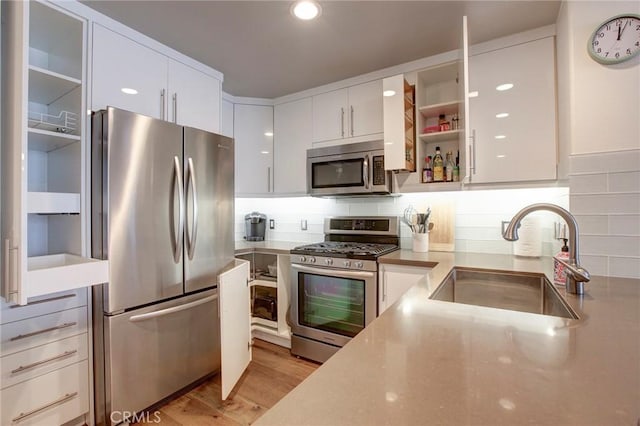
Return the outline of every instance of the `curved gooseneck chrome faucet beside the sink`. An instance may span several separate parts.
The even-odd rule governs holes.
[[[515,241],[518,239],[518,228],[520,227],[520,221],[529,213],[536,210],[548,210],[554,212],[567,222],[569,227],[569,259],[564,260],[556,258],[565,266],[565,274],[567,279],[565,286],[567,292],[573,294],[584,294],[584,283],[588,282],[591,277],[589,272],[579,264],[578,260],[578,223],[571,213],[555,204],[531,204],[520,210],[513,216],[509,226],[504,230],[502,234],[503,238],[507,241]]]

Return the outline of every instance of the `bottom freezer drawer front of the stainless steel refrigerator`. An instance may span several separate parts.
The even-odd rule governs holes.
[[[220,369],[216,290],[105,318],[106,419],[136,413]]]

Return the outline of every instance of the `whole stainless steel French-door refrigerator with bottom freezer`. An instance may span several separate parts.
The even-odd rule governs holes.
[[[233,140],[107,108],[92,117],[96,423],[220,368],[216,280],[234,260]]]

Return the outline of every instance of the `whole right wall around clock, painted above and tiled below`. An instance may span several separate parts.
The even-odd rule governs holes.
[[[558,15],[560,175],[580,227],[583,266],[640,278],[640,56],[615,66],[587,53],[591,33],[640,2],[569,1]]]

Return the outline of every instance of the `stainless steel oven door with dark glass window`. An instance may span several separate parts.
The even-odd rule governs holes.
[[[344,346],[375,319],[375,272],[292,264],[293,334]]]

